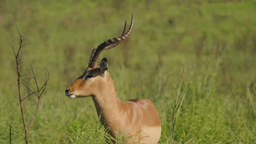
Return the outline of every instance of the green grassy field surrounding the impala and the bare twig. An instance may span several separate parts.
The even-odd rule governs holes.
[[[83,73],[91,50],[119,36],[131,14],[130,38],[101,58],[108,58],[120,100],[154,102],[162,122],[159,143],[170,142],[184,66],[181,91],[194,75],[174,143],[255,143],[256,2],[210,0],[0,1],[0,143],[9,143],[9,124],[12,142],[25,143],[11,50],[19,44],[16,26],[24,44],[31,42],[25,51],[36,75],[43,68],[50,73],[30,142],[104,143],[91,98],[69,99],[65,89]]]

